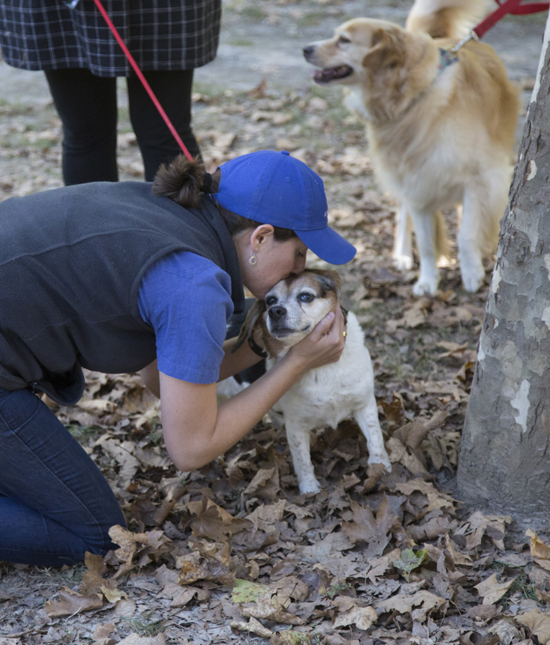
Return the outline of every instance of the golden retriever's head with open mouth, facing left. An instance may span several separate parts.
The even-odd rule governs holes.
[[[437,47],[430,36],[385,20],[349,20],[331,39],[311,43],[303,53],[320,67],[316,83],[360,87],[364,108],[374,118],[398,114],[437,73]]]

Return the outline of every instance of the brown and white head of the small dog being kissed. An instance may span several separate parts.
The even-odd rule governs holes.
[[[270,357],[280,357],[336,310],[342,282],[336,271],[305,271],[278,282],[254,303],[236,342],[253,335]]]

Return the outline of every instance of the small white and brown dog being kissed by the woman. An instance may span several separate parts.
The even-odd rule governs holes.
[[[307,270],[278,282],[264,300],[252,306],[237,341],[254,338],[267,354],[266,368],[314,329],[329,311],[340,306],[341,281],[335,271]],[[374,374],[369,350],[358,319],[347,313],[347,337],[337,363],[309,370],[274,406],[283,415],[300,493],[320,491],[311,463],[312,430],[336,429],[353,417],[366,438],[369,464],[391,463],[384,447],[374,396]]]

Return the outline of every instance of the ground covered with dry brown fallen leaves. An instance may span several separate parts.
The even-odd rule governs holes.
[[[338,23],[359,5],[225,7],[230,26],[287,33],[289,19],[306,29],[325,12]],[[1,198],[61,185],[52,105],[3,101],[0,112]],[[54,409],[104,472],[129,529],[113,527],[120,549],[80,567],[0,563],[0,645],[550,642],[549,536],[520,531],[529,518],[470,509],[453,489],[489,273],[481,293],[467,294],[451,262],[439,297],[412,298],[415,272],[397,273],[389,260],[395,204],[377,187],[362,125],[338,91],[309,82],[274,90],[269,77],[246,91],[197,83],[194,114],[212,168],[254,149],[289,149],[324,178],[331,220],[359,249],[341,268],[344,304],[373,357],[393,472],[366,466],[364,438],[344,422],[312,442],[323,491],[300,495],[284,431],[266,418],[182,474],[140,379],[90,373],[79,405]],[[120,170],[141,178],[124,110]]]

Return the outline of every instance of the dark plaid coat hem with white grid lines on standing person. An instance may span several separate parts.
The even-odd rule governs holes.
[[[3,60],[25,70],[80,67],[129,76],[131,66],[94,0],[2,0]],[[74,4],[74,2],[73,2]],[[142,70],[190,70],[216,55],[221,0],[102,0]]]

